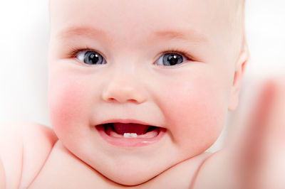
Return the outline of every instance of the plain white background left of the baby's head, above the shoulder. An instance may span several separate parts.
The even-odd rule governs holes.
[[[48,123],[48,0],[0,0],[0,124]]]

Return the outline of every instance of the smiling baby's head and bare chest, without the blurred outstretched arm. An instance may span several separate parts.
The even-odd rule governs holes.
[[[204,151],[237,107],[244,1],[50,3],[53,130],[1,131],[0,188],[227,185]]]

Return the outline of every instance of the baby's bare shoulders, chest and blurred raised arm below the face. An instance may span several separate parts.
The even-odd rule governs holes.
[[[268,82],[257,93],[249,120],[234,119],[248,128],[238,142],[177,163],[135,186],[105,178],[46,126],[9,124],[1,130],[0,188],[5,183],[6,188],[284,188],[284,79]]]

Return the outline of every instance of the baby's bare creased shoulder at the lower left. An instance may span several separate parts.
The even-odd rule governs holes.
[[[26,188],[41,171],[57,140],[52,129],[41,124],[0,126],[0,166],[4,169],[0,186],[6,183],[6,188]]]

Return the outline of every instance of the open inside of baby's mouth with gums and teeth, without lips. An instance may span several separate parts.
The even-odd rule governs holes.
[[[105,134],[115,138],[152,139],[160,134],[160,127],[143,124],[109,123],[99,125]]]

